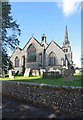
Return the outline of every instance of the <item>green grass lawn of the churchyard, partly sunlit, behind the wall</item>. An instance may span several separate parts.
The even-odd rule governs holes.
[[[60,85],[60,86],[82,86],[83,82],[80,75],[74,75],[73,81],[65,81],[64,78],[58,79],[47,79],[42,77],[23,77],[16,76],[14,79],[0,78],[1,81],[20,81],[20,82],[33,82],[39,84],[50,84],[50,85]]]

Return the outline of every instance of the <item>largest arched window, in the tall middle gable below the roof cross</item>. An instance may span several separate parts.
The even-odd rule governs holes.
[[[27,49],[27,62],[36,62],[36,48],[33,44]]]

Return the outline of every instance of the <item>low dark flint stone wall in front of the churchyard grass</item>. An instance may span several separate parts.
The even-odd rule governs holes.
[[[25,82],[4,81],[2,83],[3,95],[47,108],[51,113],[55,113],[57,118],[82,117],[82,90],[81,87],[59,87]]]

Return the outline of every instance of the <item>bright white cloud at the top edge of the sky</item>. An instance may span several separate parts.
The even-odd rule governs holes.
[[[65,16],[70,16],[80,10],[81,0],[60,0],[58,7],[62,9]]]

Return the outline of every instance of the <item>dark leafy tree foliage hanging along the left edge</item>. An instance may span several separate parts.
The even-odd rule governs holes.
[[[19,25],[11,15],[9,2],[2,3],[2,69],[7,69],[9,63],[8,50],[14,50],[19,45]]]

